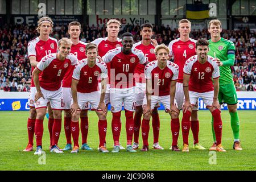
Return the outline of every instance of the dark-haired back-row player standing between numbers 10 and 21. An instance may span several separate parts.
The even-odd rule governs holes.
[[[150,23],[144,23],[141,26],[141,36],[142,41],[135,43],[134,48],[140,49],[148,62],[156,60],[155,57],[155,46],[152,42],[152,35],[154,35],[153,26]],[[138,64],[134,71],[134,77],[136,82],[136,109],[134,114],[134,143],[133,148],[136,150],[139,148],[139,129],[141,127],[141,117],[143,113],[142,102],[146,93],[146,81],[144,78],[144,65]],[[157,107],[152,111],[152,128],[154,134],[154,144],[155,149],[164,149],[158,143],[159,139],[159,129],[160,121]]]

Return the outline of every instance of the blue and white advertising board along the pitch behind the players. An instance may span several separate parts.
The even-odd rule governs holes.
[[[2,92],[0,94],[0,111],[29,110],[28,94],[28,92]],[[237,92],[237,96],[239,110],[256,110],[256,92]],[[199,109],[206,110],[201,99],[199,99]],[[221,109],[227,110],[228,107],[225,104]],[[163,105],[159,107],[159,110],[164,110]]]

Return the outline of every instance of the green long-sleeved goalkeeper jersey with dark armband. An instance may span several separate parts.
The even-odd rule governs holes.
[[[212,39],[208,40],[208,42],[208,55],[220,59],[223,63],[222,67],[220,67],[220,85],[234,83],[230,69],[230,66],[234,65],[235,59],[236,47],[234,43],[224,38],[221,38],[218,42],[212,42]]]

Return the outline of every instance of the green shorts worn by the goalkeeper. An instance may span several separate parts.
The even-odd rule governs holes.
[[[218,90],[218,102],[220,104],[237,104],[237,92],[234,84],[220,85],[220,90]]]

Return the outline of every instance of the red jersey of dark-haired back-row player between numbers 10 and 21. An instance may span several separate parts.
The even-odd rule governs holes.
[[[149,44],[148,46],[145,46],[142,44],[142,41],[140,41],[134,44],[133,47],[141,50],[144,53],[144,56],[146,57],[146,60],[148,62],[152,62],[156,60],[155,52],[154,52],[155,46],[153,46],[153,44]],[[146,83],[145,76],[144,76],[144,68],[145,68],[144,65],[137,64],[137,67],[135,68],[135,71],[134,71],[135,82]]]

